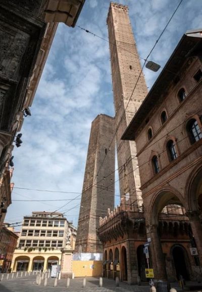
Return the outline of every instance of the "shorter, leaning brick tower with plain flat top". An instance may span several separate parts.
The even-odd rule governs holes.
[[[114,118],[98,115],[92,122],[88,144],[75,246],[79,252],[103,252],[97,229],[99,216],[106,216],[107,209],[114,208],[115,142],[110,145],[113,135]]]

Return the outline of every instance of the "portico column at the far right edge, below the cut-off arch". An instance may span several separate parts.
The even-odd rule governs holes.
[[[189,217],[191,231],[196,243],[200,265],[202,265],[202,226],[199,219],[199,211],[186,212]]]

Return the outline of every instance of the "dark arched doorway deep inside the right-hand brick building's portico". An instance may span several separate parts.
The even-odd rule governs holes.
[[[176,245],[172,248],[172,257],[175,268],[176,278],[179,280],[180,275],[184,280],[189,280],[189,273],[187,269],[187,255],[186,251],[180,245]]]

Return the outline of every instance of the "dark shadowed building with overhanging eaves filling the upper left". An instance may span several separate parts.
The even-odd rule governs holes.
[[[84,2],[36,0],[25,5],[24,1],[8,0],[0,3],[1,176],[6,176],[9,165],[13,165],[13,142],[17,147],[21,144],[19,131],[24,117],[31,114],[29,107],[58,23],[74,27]]]

